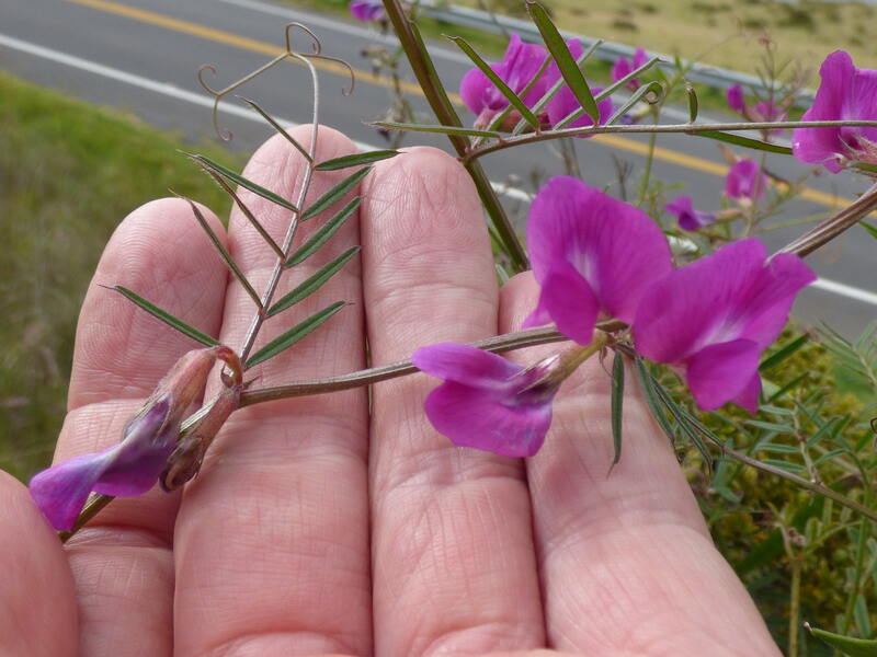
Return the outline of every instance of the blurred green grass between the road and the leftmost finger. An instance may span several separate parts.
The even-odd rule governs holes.
[[[220,216],[228,203],[172,134],[2,73],[0,99],[0,469],[26,479],[52,456],[79,306],[113,229],[169,187]]]

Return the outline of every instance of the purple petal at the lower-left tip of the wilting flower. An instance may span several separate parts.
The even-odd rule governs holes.
[[[29,485],[36,506],[58,531],[73,527],[94,482],[118,446],[98,453],[76,457],[38,472]]]

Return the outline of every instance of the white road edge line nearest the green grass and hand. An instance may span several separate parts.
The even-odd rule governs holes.
[[[227,0],[221,0],[221,1],[227,1]],[[242,0],[235,0],[235,1],[242,1]],[[158,82],[156,80],[150,80],[149,78],[144,78],[135,73],[129,73],[127,71],[123,71],[117,68],[98,64],[96,61],[82,59],[81,57],[76,57],[75,55],[68,55],[67,53],[61,53],[59,50],[46,48],[45,46],[21,41],[19,38],[9,36],[7,34],[0,34],[0,46],[5,46],[7,48],[12,48],[13,50],[19,50],[21,53],[27,53],[29,55],[33,55],[35,57],[41,57],[43,59],[56,61],[58,64],[62,64],[71,68],[94,73],[96,76],[102,76],[104,78],[116,80],[118,82],[124,82],[126,84],[130,84],[132,87],[138,87],[140,89],[152,91],[161,95],[170,96],[179,101],[185,101],[186,103],[192,103],[193,105],[200,105],[202,107],[213,107],[213,99],[207,95],[193,93],[191,91],[180,89],[179,87],[175,87],[173,84],[168,84],[167,82]],[[237,105],[225,104],[220,105],[219,110],[220,112],[225,112],[226,114],[231,114],[234,116],[238,116],[257,123],[263,123],[262,118],[258,116],[254,112],[252,112],[251,110],[239,107]],[[286,120],[286,119],[280,119],[280,120],[282,124],[291,127],[298,125],[292,120]],[[371,143],[364,143],[362,141],[354,141],[353,143],[360,150],[378,149],[378,147],[376,146],[373,146]],[[501,185],[499,183],[491,183],[491,184],[493,185],[493,188],[497,189],[498,193],[503,194],[504,196],[508,196],[510,198],[524,201],[529,200],[531,198],[531,195],[524,192],[523,189],[506,187],[505,185]],[[812,287],[839,295],[841,297],[846,297],[847,299],[853,299],[855,301],[861,301],[863,303],[868,303],[870,306],[877,306],[877,293],[861,288],[856,288],[851,285],[838,283],[834,280],[829,280],[825,278],[820,278],[813,284]]]

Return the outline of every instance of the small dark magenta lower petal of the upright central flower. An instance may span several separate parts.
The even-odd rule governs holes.
[[[580,345],[590,345],[594,339],[600,304],[591,286],[569,263],[558,263],[546,276],[539,306],[568,338]]]

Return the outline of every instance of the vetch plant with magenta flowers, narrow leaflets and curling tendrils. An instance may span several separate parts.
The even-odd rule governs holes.
[[[682,451],[693,447],[709,465],[715,459],[716,470],[701,474],[713,477],[713,489],[728,504],[737,502],[729,482],[742,469],[760,476],[779,477],[836,504],[843,512],[856,514],[863,532],[856,540],[862,543],[862,554],[865,553],[869,537],[862,537],[869,528],[866,523],[877,519],[877,512],[868,487],[864,497],[847,495],[844,488],[844,482],[852,476],[869,482],[869,473],[863,466],[864,442],[843,442],[843,429],[852,419],[823,420],[819,401],[791,396],[789,391],[795,387],[777,384],[772,377],[773,368],[793,358],[806,342],[796,338],[776,346],[796,297],[816,280],[804,258],[867,217],[877,207],[877,186],[773,255],[752,234],[760,230],[759,222],[775,209],[773,197],[782,200],[794,196],[785,191],[788,187],[794,192],[794,185],[767,175],[766,153],[784,157],[794,153],[835,173],[850,168],[859,174],[874,175],[867,165],[877,163],[872,152],[877,117],[868,110],[868,103],[877,73],[856,69],[848,56],[834,53],[822,67],[822,87],[816,104],[800,122],[783,120],[784,110],[770,100],[750,107],[742,89],[732,88],[728,102],[749,120],[699,123],[696,94],[690,90],[690,120],[665,124],[659,120],[661,106],[668,92],[685,84],[684,70],[673,76],[656,71],[654,81],[640,84],[641,76],[657,60],[648,59],[639,49],[631,61],[616,62],[612,84],[594,88],[582,66],[599,44],[585,50],[579,42],[562,37],[542,5],[528,2],[527,7],[543,37],[542,45],[525,44],[512,35],[502,60],[489,65],[464,39],[454,39],[475,67],[460,82],[460,97],[476,114],[475,125],[469,127],[457,114],[417,24],[409,20],[401,4],[396,0],[387,0],[383,5],[351,4],[351,11],[361,20],[386,20],[394,25],[437,118],[434,124],[418,124],[408,120],[411,113],[405,112],[401,114],[406,120],[375,125],[400,132],[446,135],[489,217],[499,277],[505,279],[532,269],[537,299],[528,309],[522,330],[471,344],[420,345],[410,358],[377,362],[358,371],[333,372],[309,380],[295,380],[291,372],[285,384],[260,382],[263,364],[318,330],[333,330],[331,319],[344,312],[351,299],[335,296],[323,299],[327,289],[323,286],[356,262],[361,247],[335,249],[332,238],[361,207],[363,198],[356,189],[369,176],[372,166],[383,160],[406,157],[387,149],[320,161],[317,154],[320,91],[314,60],[331,58],[321,53],[320,42],[309,30],[291,24],[286,28],[285,50],[241,81],[217,91],[204,81],[205,71],[215,74],[216,70],[207,67],[201,71],[202,83],[215,96],[216,106],[242,83],[284,61],[303,65],[314,85],[312,128],[307,147],[259,104],[246,101],[303,162],[304,173],[289,198],[208,158],[191,155],[234,200],[248,228],[259,235],[264,253],[271,256],[264,279],[260,284],[251,280],[237,262],[234,249],[215,233],[198,206],[189,201],[193,220],[215,246],[236,291],[252,306],[248,327],[240,344],[226,346],[136,290],[111,288],[200,343],[202,348],[180,358],[143,408],[128,420],[117,445],[58,463],[34,476],[31,494],[62,539],[79,530],[115,496],[141,495],[156,483],[166,491],[184,486],[198,474],[214,438],[240,408],[295,396],[331,394],[418,371],[442,380],[424,396],[422,410],[440,434],[463,448],[477,448],[504,458],[533,458],[531,463],[535,466],[542,457],[537,452],[551,440],[553,405],[556,400],[562,402],[563,383],[580,383],[578,368],[585,360],[596,356],[605,366],[612,353],[612,366],[605,367],[605,374],[612,380],[611,399],[606,400],[611,405],[611,426],[606,436],[586,437],[612,440],[614,457],[607,466],[622,462],[622,447],[626,445],[625,372],[629,370],[636,374],[643,406],[670,440],[684,442]],[[310,53],[292,47],[293,28],[303,30],[312,41]],[[351,83],[350,91],[352,87]],[[613,100],[613,94],[619,91],[626,97]],[[633,93],[627,95],[628,91]],[[626,125],[623,117],[640,102],[650,103],[653,110],[649,114],[654,120],[650,125]],[[219,128],[217,116],[215,112],[217,131],[229,136]],[[739,134],[753,128],[761,131],[762,139]],[[793,149],[768,141],[773,131],[787,128],[795,129]],[[604,134],[649,135],[647,163],[636,201],[616,198],[613,188],[589,185],[588,176],[580,171],[580,175],[550,177],[529,205],[524,245],[480,159],[522,145]],[[762,160],[728,151],[731,165],[725,181],[726,200],[716,212],[695,210],[690,196],[676,196],[664,204],[664,188],[651,180],[658,134],[711,139],[724,148],[731,145],[758,151]],[[582,149],[591,143],[584,142]],[[338,182],[323,194],[309,195],[315,177],[323,172],[340,172]],[[773,189],[770,195],[768,189]],[[403,194],[405,189],[399,192]],[[626,198],[626,194],[620,196]],[[288,217],[280,238],[272,237],[264,217],[246,203],[253,197]],[[676,224],[672,219],[668,222],[662,209],[676,217]],[[316,227],[303,240],[298,229],[305,222]],[[410,227],[411,231],[419,229]],[[326,257],[324,263],[283,293],[285,276],[318,252]],[[319,310],[301,311],[306,299],[318,299]],[[430,318],[424,318],[428,321]],[[267,322],[278,326],[271,339],[264,336]],[[867,383],[877,384],[869,347],[844,343],[833,334],[827,341],[847,360],[857,359],[861,371],[856,371]],[[499,355],[554,343],[572,344],[546,349],[539,357],[521,359],[527,366]],[[214,370],[217,364],[219,371]],[[218,392],[195,410],[208,387]],[[737,411],[726,404],[740,406],[752,417],[740,419]],[[698,413],[695,405],[709,413]],[[783,424],[776,416],[791,419]],[[720,436],[713,428],[719,422],[730,427],[729,434]],[[756,430],[768,431],[768,438],[753,439],[761,436]],[[776,441],[778,436],[786,435],[794,438],[794,445]],[[820,447],[820,440],[827,436],[834,441],[832,445],[841,447]],[[745,449],[740,448],[741,441],[749,441]],[[761,458],[762,452],[800,454],[801,463],[795,465],[802,470]],[[462,458],[467,457],[464,453]],[[820,468],[835,458],[843,459],[843,476],[823,481]],[[738,470],[729,473],[731,469]],[[208,476],[221,476],[221,471]],[[95,495],[87,500],[91,493]],[[833,510],[819,512],[830,517]],[[777,522],[785,532],[785,549],[794,556],[797,548],[789,542],[789,537],[794,538],[789,528],[795,519],[782,518]],[[529,527],[526,533],[531,535]],[[819,534],[820,540],[828,540],[828,531]],[[848,619],[858,604],[866,570],[864,562],[855,569],[856,592],[848,603],[846,627],[841,630],[850,629]],[[799,587],[800,570],[796,577]],[[793,615],[797,622],[797,615]],[[797,649],[797,635],[791,633],[791,636],[789,643]]]

